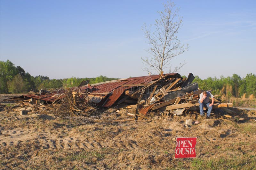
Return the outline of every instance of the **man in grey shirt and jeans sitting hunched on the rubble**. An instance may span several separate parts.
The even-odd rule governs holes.
[[[212,98],[212,103],[209,102],[210,101],[209,97]],[[213,106],[213,103],[214,103],[213,95],[210,92],[203,91],[199,96],[199,101],[198,102],[200,103],[199,108],[200,108],[200,115],[201,116],[204,116],[204,106],[208,107],[206,118],[209,119],[211,111],[212,111],[212,106]]]

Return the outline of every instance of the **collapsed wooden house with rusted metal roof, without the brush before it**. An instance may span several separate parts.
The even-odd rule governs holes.
[[[169,73],[152,76],[125,78],[101,82],[90,85],[88,81],[82,82],[78,87],[69,89],[54,89],[41,91],[40,94],[28,93],[9,100],[22,100],[34,105],[49,105],[58,103],[67,97],[72,100],[71,112],[79,112],[85,107],[81,103],[89,103],[97,108],[115,107],[122,103],[136,106],[135,116],[139,120],[148,119],[147,114],[153,110],[159,110],[162,115],[182,115],[199,110],[199,95],[203,90],[198,88],[192,73],[188,78],[182,78],[178,73]],[[219,118],[232,119],[228,115],[234,114],[232,103],[221,103],[214,99],[215,108],[220,108],[222,113]],[[206,108],[205,108],[206,109]],[[226,116],[226,117],[225,117]],[[232,119],[233,120],[233,119]]]

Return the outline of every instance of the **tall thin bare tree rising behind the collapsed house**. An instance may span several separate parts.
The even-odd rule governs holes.
[[[164,11],[158,12],[160,19],[156,19],[154,25],[146,26],[145,24],[142,27],[148,39],[147,43],[151,45],[151,48],[146,51],[151,56],[141,59],[143,64],[147,65],[143,70],[150,74],[156,72],[161,74],[163,70],[169,73],[177,72],[186,64],[185,62],[180,63],[179,66],[171,70],[171,59],[187,51],[188,44],[184,47],[176,36],[182,24],[182,17],[178,15],[179,8],[175,8],[175,4],[172,2],[164,4],[164,8]],[[153,28],[155,31],[152,32]]]

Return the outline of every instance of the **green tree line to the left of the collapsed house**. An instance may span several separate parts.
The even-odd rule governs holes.
[[[47,90],[78,86],[83,80],[89,80],[90,84],[94,84],[116,79],[118,78],[107,78],[106,76],[96,78],[71,77],[64,79],[49,79],[49,77],[41,75],[33,77],[22,67],[15,67],[9,60],[6,62],[0,61],[0,93],[38,92],[40,89]]]

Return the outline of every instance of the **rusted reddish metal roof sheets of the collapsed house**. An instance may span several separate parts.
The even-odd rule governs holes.
[[[178,73],[170,73],[164,74],[166,78],[181,78],[180,74]],[[133,78],[126,78],[126,79],[119,79],[119,80],[112,80],[102,83],[97,83],[94,85],[84,85],[81,87],[74,88],[75,90],[81,92],[89,92],[89,93],[98,93],[102,95],[103,99],[105,100],[102,107],[110,107],[112,106],[116,100],[122,95],[122,93],[127,90],[131,89],[132,87],[124,87],[122,85],[139,85],[143,83],[149,83],[151,81],[157,80],[160,75],[152,75],[152,76],[142,76],[142,77],[133,77]],[[103,94],[105,93],[105,95]],[[27,94],[24,97],[33,98],[37,100],[45,100],[54,102],[55,100],[60,100],[66,96],[65,90],[55,90],[51,93],[35,95],[35,94]],[[107,98],[106,98],[107,97]]]

